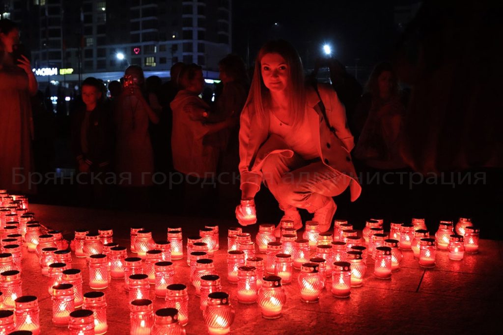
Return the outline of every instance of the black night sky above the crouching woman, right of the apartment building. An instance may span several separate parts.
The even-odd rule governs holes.
[[[327,42],[345,65],[353,66],[358,58],[360,66],[372,67],[389,60],[399,37],[395,6],[414,3],[417,0],[234,1],[232,48],[245,58],[248,36],[251,62],[264,42],[283,38],[309,67]]]

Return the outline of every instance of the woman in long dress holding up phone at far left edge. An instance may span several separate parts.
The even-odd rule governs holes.
[[[34,193],[28,178],[33,171],[30,96],[37,93],[38,84],[30,60],[18,47],[17,25],[0,20],[0,188]]]

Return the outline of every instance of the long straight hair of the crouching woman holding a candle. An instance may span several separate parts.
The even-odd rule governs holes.
[[[288,65],[289,74],[286,87],[286,93],[288,96],[288,109],[293,115],[292,126],[296,127],[300,124],[304,117],[304,70],[297,50],[295,50],[295,48],[287,41],[269,41],[260,49],[259,55],[257,56],[257,59],[255,61],[253,80],[251,80],[250,91],[248,98],[246,99],[245,106],[248,106],[248,108],[251,110],[251,113],[254,113],[259,117],[265,118],[267,116],[265,105],[268,100],[271,99],[271,94],[269,88],[266,87],[262,78],[261,60],[266,54],[269,53],[276,53],[281,55]]]

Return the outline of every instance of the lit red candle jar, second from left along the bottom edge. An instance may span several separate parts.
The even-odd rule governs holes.
[[[16,329],[40,334],[40,308],[37,297],[33,295],[19,297],[15,300],[15,306]]]

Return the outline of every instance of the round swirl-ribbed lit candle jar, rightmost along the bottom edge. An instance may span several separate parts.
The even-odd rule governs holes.
[[[229,295],[225,292],[210,293],[203,317],[210,335],[228,334],[234,321],[234,308],[230,305]]]

